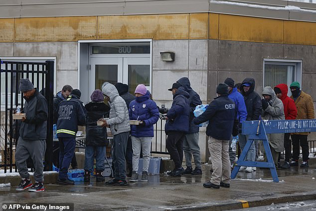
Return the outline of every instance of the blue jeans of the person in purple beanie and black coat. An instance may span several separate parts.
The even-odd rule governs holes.
[[[86,146],[84,170],[93,171],[94,153],[96,152],[96,170],[104,171],[105,146]]]

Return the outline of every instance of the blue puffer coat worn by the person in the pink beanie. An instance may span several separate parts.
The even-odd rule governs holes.
[[[159,111],[150,93],[136,97],[130,104],[130,120],[145,121],[145,126],[131,125],[131,135],[135,137],[154,137],[154,125],[158,122]]]

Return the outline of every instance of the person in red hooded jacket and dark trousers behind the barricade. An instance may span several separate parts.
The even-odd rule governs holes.
[[[284,114],[286,120],[293,120],[296,119],[298,114],[298,110],[296,108],[294,100],[292,100],[288,96],[288,85],[281,83],[274,87],[274,91],[277,97],[282,100],[283,107],[284,107]],[[284,134],[284,148],[285,148],[285,162],[281,166],[282,169],[289,169],[290,168],[290,159],[291,159],[291,140],[290,140],[290,133]],[[281,153],[280,153],[281,154]],[[279,162],[280,162],[280,154],[279,154]]]

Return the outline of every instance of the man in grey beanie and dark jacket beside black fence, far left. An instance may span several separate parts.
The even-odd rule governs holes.
[[[45,191],[43,186],[43,160],[46,151],[46,130],[48,106],[46,99],[28,79],[20,79],[19,88],[25,99],[23,111],[25,117],[21,119],[19,138],[15,150],[15,164],[21,182],[15,189],[30,192]],[[31,158],[34,164],[35,184],[32,184],[27,171],[26,160]]]

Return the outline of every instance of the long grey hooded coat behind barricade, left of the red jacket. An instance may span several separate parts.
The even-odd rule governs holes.
[[[272,98],[268,102],[268,107],[263,111],[263,120],[285,120],[284,108],[282,101],[277,98],[276,93],[270,86],[263,88],[262,94],[270,95]],[[284,151],[284,134],[273,133],[267,134],[269,144],[276,152]]]

